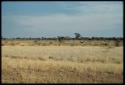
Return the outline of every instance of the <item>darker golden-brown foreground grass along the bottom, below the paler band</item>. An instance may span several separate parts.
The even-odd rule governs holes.
[[[2,58],[3,83],[122,83],[122,64]]]

